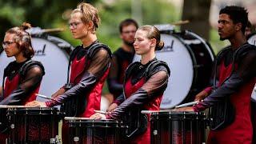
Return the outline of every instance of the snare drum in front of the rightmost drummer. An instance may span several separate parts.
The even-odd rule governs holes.
[[[205,115],[195,112],[154,112],[150,116],[151,144],[202,144]]]

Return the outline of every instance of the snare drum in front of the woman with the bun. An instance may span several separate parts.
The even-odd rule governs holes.
[[[120,126],[115,120],[93,120],[88,118],[66,117],[70,127],[70,144],[118,144]]]

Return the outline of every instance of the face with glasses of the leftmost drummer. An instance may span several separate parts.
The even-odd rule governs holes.
[[[18,49],[17,42],[14,42],[15,34],[6,33],[5,38],[2,42],[2,47],[4,48],[7,57],[13,57],[20,54],[20,50]]]

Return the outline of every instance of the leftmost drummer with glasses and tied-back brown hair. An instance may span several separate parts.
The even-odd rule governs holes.
[[[3,83],[0,93],[0,105],[25,105],[34,101],[38,93],[44,67],[40,62],[32,60],[34,49],[27,29],[29,23],[13,27],[6,31],[2,47],[8,58],[14,57],[4,70]],[[0,143],[6,142],[7,134],[0,132]]]

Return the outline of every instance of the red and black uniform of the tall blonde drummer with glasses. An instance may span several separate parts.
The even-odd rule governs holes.
[[[70,117],[89,118],[100,110],[102,87],[110,69],[110,48],[98,41],[90,46],[77,46],[70,54],[70,80],[66,92],[46,102],[46,106],[61,106]],[[67,87],[70,86],[70,87]],[[67,123],[62,125],[62,140],[68,142]]]

